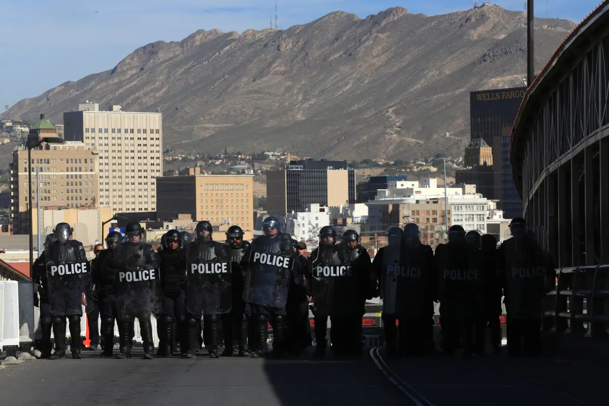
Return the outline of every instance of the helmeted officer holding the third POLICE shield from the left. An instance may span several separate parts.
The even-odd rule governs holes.
[[[197,223],[195,232],[197,240],[186,246],[187,312],[182,352],[186,358],[195,356],[203,315],[205,348],[209,357],[218,358],[220,314],[230,312],[232,307],[230,254],[222,243],[213,240],[208,221]]]

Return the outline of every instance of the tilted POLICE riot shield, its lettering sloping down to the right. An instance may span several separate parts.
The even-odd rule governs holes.
[[[252,243],[248,271],[245,276],[243,299],[270,307],[284,307],[289,290],[289,278],[294,257],[284,253],[269,253]]]

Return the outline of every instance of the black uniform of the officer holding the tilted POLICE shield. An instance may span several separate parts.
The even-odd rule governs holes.
[[[264,223],[263,223],[264,228]],[[275,255],[281,255],[292,258],[292,268],[291,270],[286,270],[287,279],[281,279],[279,281],[276,276],[273,276],[272,273],[265,273],[262,279],[265,278],[274,278],[273,280],[269,279],[266,282],[271,287],[270,290],[273,290],[273,284],[278,285],[279,290],[275,290],[273,299],[275,303],[282,303],[281,307],[272,307],[269,305],[253,303],[250,301],[250,307],[252,310],[252,317],[255,323],[255,335],[256,335],[256,348],[255,353],[252,356],[257,357],[264,352],[265,343],[266,343],[266,332],[267,325],[270,324],[273,327],[273,354],[281,357],[284,353],[284,331],[286,328],[286,301],[287,301],[287,293],[289,292],[289,285],[294,283],[296,285],[302,283],[302,272],[300,268],[300,264],[298,261],[295,261],[297,258],[297,254],[292,249],[292,243],[290,241],[290,236],[283,233],[275,234],[274,236],[259,236],[252,242],[250,248],[248,248],[244,257],[241,260],[241,267],[247,270],[246,273],[246,285],[247,281],[252,281],[253,279],[257,279],[261,283],[265,283],[262,280],[259,280],[258,277],[261,275],[254,275],[250,268],[250,260],[252,260],[252,253],[270,253]],[[300,274],[300,275],[299,275]],[[247,288],[246,288],[247,289]],[[244,291],[244,299],[246,301],[251,300],[248,298]],[[250,347],[250,351],[254,349]]]

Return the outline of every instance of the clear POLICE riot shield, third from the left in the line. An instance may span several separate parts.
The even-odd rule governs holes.
[[[211,259],[189,261],[186,275],[188,312],[223,314],[233,308],[231,262]]]

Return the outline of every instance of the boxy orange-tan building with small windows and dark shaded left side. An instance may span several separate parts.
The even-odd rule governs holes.
[[[196,222],[238,225],[253,236],[253,175],[186,175],[157,178],[157,217],[190,214]],[[224,240],[224,237],[220,238]]]

